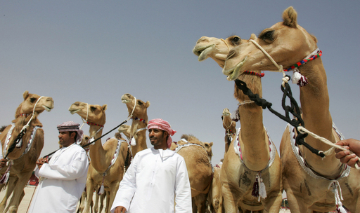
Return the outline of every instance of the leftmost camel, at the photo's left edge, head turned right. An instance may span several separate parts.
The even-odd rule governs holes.
[[[42,124],[38,116],[44,110],[51,111],[53,109],[53,99],[51,97],[40,97],[25,91],[23,98],[24,101],[15,111],[13,124],[8,125],[0,134],[4,158],[23,127],[28,125],[25,135],[21,138],[22,141],[18,143],[13,151],[8,153],[7,159],[10,165],[0,170],[0,174],[4,174],[7,173],[6,170],[10,167],[10,178],[7,183],[6,195],[0,203],[0,212],[18,211],[19,203],[25,195],[23,189],[32,175],[36,161],[44,146],[44,130],[41,129]],[[0,186],[0,188],[3,187],[4,184]],[[11,193],[13,193],[13,196],[6,207],[7,199]]]

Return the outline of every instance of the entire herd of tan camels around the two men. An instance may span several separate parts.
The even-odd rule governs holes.
[[[314,36],[297,25],[297,12],[290,7],[283,12],[283,22],[264,29],[259,36],[252,34],[249,40],[239,36],[227,39],[203,36],[197,41],[193,53],[198,55],[199,61],[211,57],[229,81],[244,81],[253,93],[261,97],[260,74],[265,70],[278,71],[264,52],[287,68],[299,64],[307,55],[319,54],[316,42]],[[301,76],[300,103],[305,127],[330,142],[338,142],[342,135],[333,125],[330,115],[326,72],[321,58],[301,64],[294,72]],[[262,107],[251,102],[236,85],[234,97],[239,102],[236,117],[240,118],[241,128],[236,129],[229,109],[224,109],[225,153],[221,165],[212,166],[212,143],[200,142],[193,135],[183,135],[179,142],[172,144],[171,149],[186,161],[193,212],[279,212],[283,190],[287,193],[291,212],[344,212],[345,207],[350,212],[360,212],[359,170],[342,165],[335,153],[321,158],[303,146],[297,146],[294,139],[297,132],[290,125],[283,133],[279,154],[269,137],[271,133],[264,127]],[[44,146],[44,132],[37,116],[53,108],[51,97],[25,91],[23,98],[15,111],[13,125],[0,134],[3,156],[7,155],[9,159],[8,166],[0,170],[3,177],[8,176],[7,183],[0,185],[0,188],[7,187],[0,212],[17,212],[24,196],[23,188]],[[143,102],[130,94],[124,94],[121,99],[127,105],[131,126],[122,125],[117,137],[105,143],[99,139],[89,146],[91,163],[79,212],[98,212],[98,196],[95,202],[92,200],[94,191],[101,194],[101,200],[106,198],[105,212],[110,212],[131,158],[147,149],[150,102]],[[69,111],[78,114],[90,126],[86,138],[96,139],[102,135],[106,109],[106,104],[75,102]],[[9,147],[18,141],[16,136],[24,127],[27,130],[20,140],[23,144],[19,142],[13,151],[7,153]],[[315,149],[330,149],[329,145],[313,137],[307,137],[306,142]],[[13,196],[6,205],[11,193]]]

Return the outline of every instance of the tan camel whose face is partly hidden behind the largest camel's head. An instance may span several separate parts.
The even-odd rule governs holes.
[[[201,37],[193,52],[200,56],[206,53],[220,67],[229,64],[229,56],[223,56],[226,55],[226,50],[230,55],[233,48],[241,46],[242,43],[248,43],[248,40],[240,39],[238,36],[231,36],[227,39],[207,38],[209,37]],[[236,43],[233,42],[234,38],[236,38]],[[209,48],[210,50],[208,50]],[[222,51],[221,54],[212,53],[219,50]],[[206,58],[206,56],[204,57]],[[259,71],[254,72],[259,75]],[[259,76],[244,74],[237,77],[245,81],[253,92],[262,95],[262,83]],[[248,103],[249,98],[236,85],[234,97],[240,103],[238,113],[241,128],[238,135],[233,138],[229,146],[231,149],[226,152],[221,167],[221,193],[224,199],[224,209],[226,212],[236,212],[238,208],[244,211],[247,209],[278,212],[281,207],[283,191],[281,160],[274,144],[269,142],[269,136],[262,121],[262,108],[254,103]],[[273,156],[271,156],[269,146],[271,146]],[[241,154],[238,149],[241,150]],[[239,154],[242,159],[239,158]],[[260,175],[261,177],[259,177]],[[258,179],[262,179],[262,181]],[[263,191],[263,193],[252,195],[255,182],[259,186],[265,186],[266,189],[262,188],[266,190],[266,193]]]

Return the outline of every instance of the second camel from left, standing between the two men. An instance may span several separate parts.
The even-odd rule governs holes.
[[[86,104],[83,102],[75,102],[69,108],[71,114],[78,114],[86,123],[90,125],[89,135],[97,139],[103,133],[103,125],[105,124],[105,110],[107,105]],[[110,212],[113,205],[117,189],[124,175],[124,163],[127,156],[128,144],[124,139],[109,139],[105,144],[101,144],[98,139],[94,144],[90,145],[89,156],[91,163],[86,179],[86,205],[80,207],[83,212],[90,211],[93,192],[96,186],[103,185],[107,193],[105,212]]]

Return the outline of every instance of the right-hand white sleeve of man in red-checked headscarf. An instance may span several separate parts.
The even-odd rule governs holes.
[[[176,213],[191,213],[193,211],[191,205],[191,186],[184,158],[179,159],[176,171],[175,202]]]

